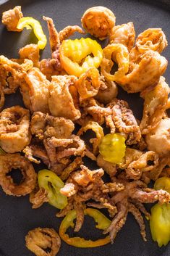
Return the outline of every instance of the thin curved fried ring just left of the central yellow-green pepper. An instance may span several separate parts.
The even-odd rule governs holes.
[[[90,143],[93,144],[93,154],[96,155],[98,153],[98,145],[101,143],[101,139],[104,136],[103,128],[101,127],[101,125],[99,125],[97,122],[90,121],[85,126],[82,126],[82,128],[80,128],[77,135],[81,136],[82,133],[90,129],[96,134],[95,139],[90,139]]]

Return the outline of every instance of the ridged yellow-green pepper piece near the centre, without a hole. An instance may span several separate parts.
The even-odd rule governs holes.
[[[99,145],[99,152],[103,159],[114,164],[119,164],[122,161],[125,149],[125,139],[120,133],[106,134]]]

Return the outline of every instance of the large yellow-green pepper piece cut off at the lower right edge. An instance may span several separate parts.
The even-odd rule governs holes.
[[[170,241],[170,204],[156,204],[151,209],[150,231],[158,246]]]

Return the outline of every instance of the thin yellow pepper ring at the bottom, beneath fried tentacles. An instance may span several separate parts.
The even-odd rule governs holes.
[[[91,216],[96,223],[98,223],[95,227],[98,229],[105,230],[111,225],[111,220],[106,218],[103,213],[99,212],[95,209],[85,209],[85,215]],[[61,239],[63,239],[67,244],[72,245],[74,247],[81,247],[81,248],[90,248],[90,247],[100,247],[104,244],[110,243],[110,237],[106,236],[104,239],[98,239],[96,241],[92,240],[85,240],[82,237],[69,237],[68,234],[66,234],[66,231],[69,227],[74,228],[75,224],[73,220],[76,218],[76,211],[72,210],[70,211],[65,218],[62,220],[61,225],[59,227],[59,235],[61,236]]]

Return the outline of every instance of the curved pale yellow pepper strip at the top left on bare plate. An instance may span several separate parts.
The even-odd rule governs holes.
[[[38,38],[38,47],[39,49],[44,49],[46,46],[46,35],[43,33],[43,29],[38,20],[35,20],[33,17],[22,17],[17,23],[17,29],[31,29],[35,33],[35,36]]]

